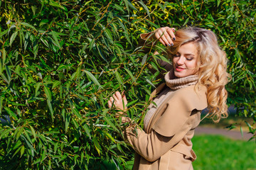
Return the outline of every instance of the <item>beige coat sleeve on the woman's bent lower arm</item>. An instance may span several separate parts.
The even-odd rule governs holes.
[[[171,97],[166,106],[161,107],[161,117],[156,120],[153,130],[149,134],[137,125],[126,129],[126,136],[134,150],[149,162],[154,162],[180,142],[193,127],[195,117],[193,110],[201,111],[203,104],[193,106],[189,96],[176,94]],[[182,107],[181,107],[182,106]]]

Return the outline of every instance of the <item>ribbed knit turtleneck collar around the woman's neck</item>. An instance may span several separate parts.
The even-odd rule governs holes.
[[[191,75],[188,77],[176,78],[174,76],[174,69],[171,69],[171,71],[165,75],[164,79],[166,81],[166,85],[169,86],[170,89],[177,90],[196,84],[198,81],[198,76]]]

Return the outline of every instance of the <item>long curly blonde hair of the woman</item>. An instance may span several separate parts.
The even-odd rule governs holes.
[[[220,118],[228,117],[226,104],[228,92],[225,84],[228,84],[230,74],[227,72],[228,59],[218,45],[218,40],[211,30],[203,28],[183,28],[175,33],[174,46],[169,47],[167,53],[172,58],[178,52],[179,47],[188,42],[194,42],[198,50],[198,83],[207,87],[207,102],[210,118],[219,122]]]

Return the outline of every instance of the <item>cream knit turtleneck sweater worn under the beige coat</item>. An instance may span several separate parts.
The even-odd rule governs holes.
[[[161,106],[161,103],[163,103],[166,98],[168,98],[168,96],[170,96],[172,93],[174,93],[174,91],[178,89],[196,84],[198,81],[198,76],[191,75],[188,77],[175,79],[174,70],[172,69],[165,75],[164,79],[167,86],[163,89],[163,91],[160,92],[160,94],[156,98],[154,98],[153,102],[156,103],[156,106],[153,103],[149,105],[149,111],[147,111],[144,117],[144,128],[149,125],[149,120],[156,112],[156,109]]]

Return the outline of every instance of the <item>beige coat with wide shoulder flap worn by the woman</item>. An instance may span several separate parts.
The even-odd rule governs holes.
[[[164,88],[161,84],[151,96]],[[188,86],[174,91],[156,109],[146,129],[131,125],[126,137],[137,152],[134,170],[191,170],[196,154],[191,138],[207,107],[206,87]]]

